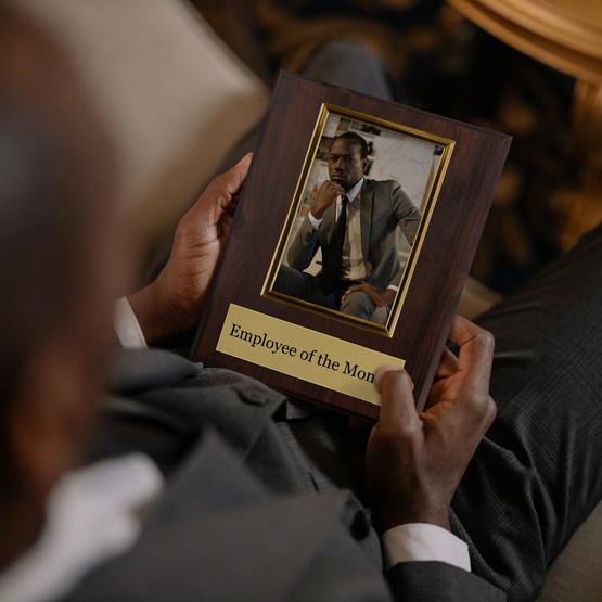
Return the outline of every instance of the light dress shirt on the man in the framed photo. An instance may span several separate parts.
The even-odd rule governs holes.
[[[341,257],[341,278],[342,280],[359,280],[363,281],[367,277],[366,258],[363,257],[363,249],[361,246],[361,188],[363,187],[364,178],[361,178],[354,187],[347,192],[347,228],[345,231],[345,241],[343,242],[343,254]],[[341,195],[336,198],[334,220],[338,219],[341,215],[341,207],[343,198]],[[311,212],[308,213],[309,222],[313,230],[317,230],[322,225],[324,218],[318,219]],[[398,286],[389,284],[387,289],[397,292]]]

